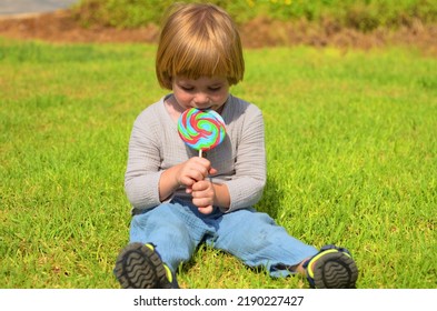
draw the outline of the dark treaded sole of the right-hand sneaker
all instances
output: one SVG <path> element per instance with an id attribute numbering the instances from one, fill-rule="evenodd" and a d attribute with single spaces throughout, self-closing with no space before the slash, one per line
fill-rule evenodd
<path id="1" fill-rule="evenodd" d="M 355 289 L 357 279 L 355 261 L 342 252 L 326 253 L 314 267 L 316 289 Z"/>

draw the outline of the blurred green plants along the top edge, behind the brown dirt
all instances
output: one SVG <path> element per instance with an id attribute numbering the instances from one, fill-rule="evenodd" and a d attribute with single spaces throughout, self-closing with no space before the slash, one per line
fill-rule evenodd
<path id="1" fill-rule="evenodd" d="M 77 18 L 85 27 L 100 24 L 138 28 L 159 23 L 171 0 L 81 0 Z M 256 17 L 294 21 L 335 22 L 338 27 L 371 31 L 377 28 L 435 23 L 436 0 L 211 0 L 226 9 L 238 23 Z"/>

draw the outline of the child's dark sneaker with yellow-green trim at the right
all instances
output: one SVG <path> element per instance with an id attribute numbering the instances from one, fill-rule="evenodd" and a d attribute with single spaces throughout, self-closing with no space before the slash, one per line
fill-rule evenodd
<path id="1" fill-rule="evenodd" d="M 355 289 L 358 269 L 347 249 L 325 245 L 304 263 L 314 289 Z"/>

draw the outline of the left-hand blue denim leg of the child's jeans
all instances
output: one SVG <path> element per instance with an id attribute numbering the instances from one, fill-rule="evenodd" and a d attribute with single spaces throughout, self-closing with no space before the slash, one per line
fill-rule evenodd
<path id="1" fill-rule="evenodd" d="M 188 261 L 202 238 L 203 228 L 189 207 L 177 202 L 162 203 L 130 223 L 130 242 L 152 243 L 162 261 L 176 272 Z"/>

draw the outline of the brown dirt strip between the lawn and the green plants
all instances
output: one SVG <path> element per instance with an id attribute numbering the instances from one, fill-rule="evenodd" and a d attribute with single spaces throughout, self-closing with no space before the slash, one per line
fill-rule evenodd
<path id="1" fill-rule="evenodd" d="M 362 33 L 339 27 L 335 21 L 310 24 L 306 21 L 278 22 L 258 18 L 240 27 L 245 48 L 307 44 L 314 47 L 373 49 L 387 46 L 414 46 L 437 57 L 437 26 L 420 21 L 396 31 L 377 29 Z M 158 27 L 126 30 L 108 27 L 86 29 L 70 10 L 0 19 L 0 36 L 16 39 L 40 39 L 50 42 L 147 42 L 155 43 Z"/>

